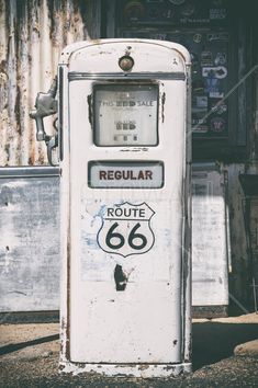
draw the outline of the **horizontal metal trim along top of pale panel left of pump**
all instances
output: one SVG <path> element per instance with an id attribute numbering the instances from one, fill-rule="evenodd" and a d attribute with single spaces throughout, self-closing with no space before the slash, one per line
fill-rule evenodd
<path id="1" fill-rule="evenodd" d="M 56 167 L 3 167 L 0 168 L 0 179 L 7 178 L 41 178 L 59 176 L 60 169 Z"/>

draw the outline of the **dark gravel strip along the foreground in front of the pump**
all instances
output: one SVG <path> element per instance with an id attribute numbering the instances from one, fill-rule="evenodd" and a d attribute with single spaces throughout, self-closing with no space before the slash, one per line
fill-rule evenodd
<path id="1" fill-rule="evenodd" d="M 0 363 L 3 388 L 36 387 L 94 387 L 94 388 L 166 388 L 166 387 L 258 387 L 258 358 L 229 357 L 207 365 L 187 377 L 141 379 L 103 377 L 96 374 L 77 376 L 57 373 L 58 357 L 49 355 L 38 360 Z"/>

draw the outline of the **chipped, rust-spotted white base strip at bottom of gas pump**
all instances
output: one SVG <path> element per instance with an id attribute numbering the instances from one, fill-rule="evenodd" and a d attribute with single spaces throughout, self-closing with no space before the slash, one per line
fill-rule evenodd
<path id="1" fill-rule="evenodd" d="M 67 362 L 60 363 L 59 372 L 74 375 L 93 372 L 110 377 L 165 378 L 191 373 L 192 364 L 83 364 Z"/>

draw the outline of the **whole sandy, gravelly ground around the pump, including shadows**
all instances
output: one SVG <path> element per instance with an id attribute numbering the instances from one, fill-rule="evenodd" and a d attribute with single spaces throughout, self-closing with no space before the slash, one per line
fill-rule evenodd
<path id="1" fill-rule="evenodd" d="M 0 324 L 0 387 L 258 387 L 258 315 L 193 321 L 193 373 L 177 379 L 58 374 L 57 323 Z"/>

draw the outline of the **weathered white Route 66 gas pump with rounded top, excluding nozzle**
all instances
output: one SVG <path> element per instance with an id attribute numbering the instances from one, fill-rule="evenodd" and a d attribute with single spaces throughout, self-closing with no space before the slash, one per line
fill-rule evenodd
<path id="1" fill-rule="evenodd" d="M 190 56 L 68 46 L 58 67 L 60 370 L 191 370 Z"/>

